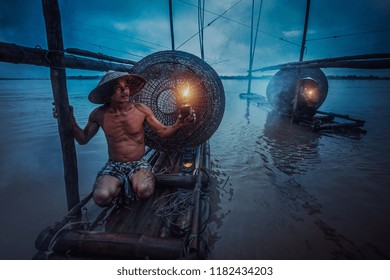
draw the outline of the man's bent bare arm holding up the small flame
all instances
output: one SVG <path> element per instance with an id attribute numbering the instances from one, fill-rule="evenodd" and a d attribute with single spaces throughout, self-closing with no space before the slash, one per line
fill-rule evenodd
<path id="1" fill-rule="evenodd" d="M 194 121 L 194 116 L 190 116 L 183 120 L 179 116 L 176 122 L 173 125 L 166 126 L 163 125 L 153 114 L 153 111 L 144 104 L 137 104 L 139 110 L 145 113 L 146 122 L 149 124 L 150 128 L 161 137 L 170 137 L 174 135 L 181 127 L 188 125 Z"/>

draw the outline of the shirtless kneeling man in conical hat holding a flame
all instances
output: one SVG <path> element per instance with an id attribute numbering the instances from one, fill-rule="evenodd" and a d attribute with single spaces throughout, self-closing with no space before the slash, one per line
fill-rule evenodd
<path id="1" fill-rule="evenodd" d="M 92 103 L 103 105 L 91 112 L 84 129 L 76 123 L 70 107 L 71 126 L 79 144 L 87 144 L 99 127 L 106 136 L 109 159 L 93 187 L 93 199 L 99 206 L 120 201 L 121 186 L 125 187 L 126 197 L 144 199 L 152 195 L 155 180 L 145 159 L 145 121 L 157 135 L 170 137 L 196 120 L 193 112 L 185 119 L 179 115 L 173 125 L 166 126 L 148 106 L 130 102 L 129 97 L 139 92 L 145 82 L 139 75 L 107 72 L 88 96 Z"/>

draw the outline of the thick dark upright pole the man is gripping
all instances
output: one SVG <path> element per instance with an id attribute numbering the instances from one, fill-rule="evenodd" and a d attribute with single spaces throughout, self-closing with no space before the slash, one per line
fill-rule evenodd
<path id="1" fill-rule="evenodd" d="M 50 67 L 50 79 L 53 97 L 58 112 L 58 131 L 60 134 L 62 158 L 64 165 L 64 178 L 68 209 L 80 202 L 78 188 L 78 171 L 76 149 L 70 125 L 70 111 L 68 91 L 66 87 L 65 60 L 63 56 L 63 41 L 61 30 L 61 17 L 58 1 L 42 0 L 43 15 L 46 24 L 48 49 L 57 52 L 54 65 Z"/>

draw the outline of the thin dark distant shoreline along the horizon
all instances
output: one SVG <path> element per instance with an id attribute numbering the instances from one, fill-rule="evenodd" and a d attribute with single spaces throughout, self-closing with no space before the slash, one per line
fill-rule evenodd
<path id="1" fill-rule="evenodd" d="M 103 76 L 68 76 L 67 80 L 98 80 Z M 356 76 L 356 75 L 328 75 L 328 80 L 390 80 L 390 77 L 379 76 Z M 248 76 L 225 76 L 221 75 L 222 80 L 248 80 Z M 252 80 L 269 80 L 272 75 L 266 76 L 253 76 Z M 0 78 L 0 80 L 50 80 L 48 78 Z"/>

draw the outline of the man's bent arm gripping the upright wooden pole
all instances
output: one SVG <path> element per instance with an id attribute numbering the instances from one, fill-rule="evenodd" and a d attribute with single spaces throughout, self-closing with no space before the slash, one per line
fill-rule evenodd
<path id="1" fill-rule="evenodd" d="M 95 136 L 99 130 L 99 124 L 97 122 L 97 114 L 98 114 L 97 110 L 99 108 L 93 110 L 92 113 L 89 115 L 88 123 L 86 124 L 84 129 L 81 129 L 76 123 L 76 119 L 73 114 L 73 107 L 70 106 L 69 108 L 70 108 L 70 123 L 72 125 L 74 139 L 80 145 L 87 144 L 89 140 L 91 140 L 91 138 Z"/>

